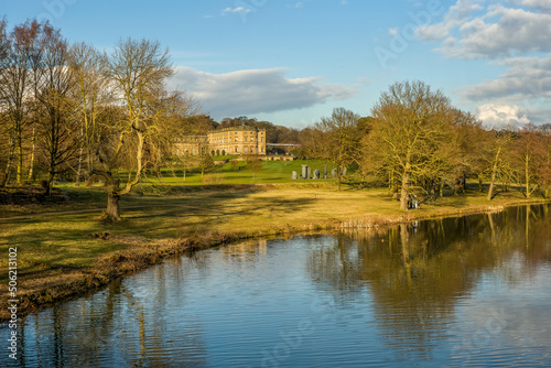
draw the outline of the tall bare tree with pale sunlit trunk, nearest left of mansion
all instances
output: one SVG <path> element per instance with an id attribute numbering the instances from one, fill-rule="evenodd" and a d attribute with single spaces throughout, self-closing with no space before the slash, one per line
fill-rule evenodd
<path id="1" fill-rule="evenodd" d="M 107 77 L 118 97 L 120 115 L 104 126 L 102 140 L 94 150 L 98 166 L 94 174 L 104 177 L 108 191 L 106 216 L 118 220 L 119 198 L 140 182 L 147 160 L 154 159 L 158 144 L 166 142 L 166 111 L 170 102 L 164 86 L 174 74 L 168 50 L 159 42 L 121 40 L 107 61 Z M 172 143 L 169 141 L 169 143 Z M 118 176 L 125 169 L 126 175 Z"/>

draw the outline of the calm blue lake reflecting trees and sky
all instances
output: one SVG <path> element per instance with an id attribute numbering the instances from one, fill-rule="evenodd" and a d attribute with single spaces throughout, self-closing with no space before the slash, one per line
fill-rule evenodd
<path id="1" fill-rule="evenodd" d="M 551 366 L 550 208 L 179 257 L 28 316 L 0 366 Z"/>

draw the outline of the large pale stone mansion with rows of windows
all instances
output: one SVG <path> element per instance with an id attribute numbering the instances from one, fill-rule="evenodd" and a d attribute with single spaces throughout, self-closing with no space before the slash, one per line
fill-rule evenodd
<path id="1" fill-rule="evenodd" d="M 247 126 L 214 130 L 207 136 L 176 138 L 176 155 L 266 154 L 266 130 Z"/>

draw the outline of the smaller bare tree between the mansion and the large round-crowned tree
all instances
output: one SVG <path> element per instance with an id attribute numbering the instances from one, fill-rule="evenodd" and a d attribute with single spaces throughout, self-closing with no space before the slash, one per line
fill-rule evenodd
<path id="1" fill-rule="evenodd" d="M 359 155 L 360 137 L 357 125 L 359 116 L 344 108 L 335 108 L 331 117 L 322 118 L 315 125 L 321 134 L 313 140 L 312 152 L 321 160 L 327 160 L 337 167 L 337 183 L 341 191 L 343 170 Z"/>

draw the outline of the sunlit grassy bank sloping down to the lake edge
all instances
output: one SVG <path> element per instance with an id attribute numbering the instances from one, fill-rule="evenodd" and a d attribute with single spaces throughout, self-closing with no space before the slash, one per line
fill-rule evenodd
<path id="1" fill-rule="evenodd" d="M 488 202 L 473 188 L 468 195 L 439 198 L 403 213 L 386 190 L 338 192 L 331 182 L 140 185 L 121 199 L 123 219 L 107 224 L 100 219 L 101 188 L 66 187 L 56 196 L 50 203 L 15 201 L 1 208 L 1 253 L 7 259 L 8 249 L 18 248 L 20 315 L 188 250 L 253 237 L 369 228 L 527 203 L 519 192 L 501 193 Z M 8 284 L 7 262 L 0 266 L 0 283 Z M 7 288 L 2 291 L 3 320 L 9 297 Z"/>

